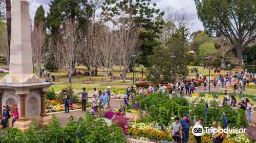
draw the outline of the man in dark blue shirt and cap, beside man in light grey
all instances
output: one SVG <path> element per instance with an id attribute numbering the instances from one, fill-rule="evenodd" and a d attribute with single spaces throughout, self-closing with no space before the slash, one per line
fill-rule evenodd
<path id="1" fill-rule="evenodd" d="M 188 141 L 189 136 L 189 123 L 191 122 L 191 117 L 188 114 L 184 114 L 183 118 L 180 120 L 182 126 L 182 143 Z"/>

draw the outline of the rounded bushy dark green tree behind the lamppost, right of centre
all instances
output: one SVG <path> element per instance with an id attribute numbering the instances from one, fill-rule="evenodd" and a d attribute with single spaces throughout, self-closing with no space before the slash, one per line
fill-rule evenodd
<path id="1" fill-rule="evenodd" d="M 150 81 L 169 81 L 174 80 L 174 58 L 176 56 L 176 74 L 177 77 L 188 75 L 186 47 L 180 38 L 169 38 L 166 46 L 159 45 L 154 47 L 154 54 L 151 55 L 150 62 L 152 67 L 147 67 L 147 79 Z"/>

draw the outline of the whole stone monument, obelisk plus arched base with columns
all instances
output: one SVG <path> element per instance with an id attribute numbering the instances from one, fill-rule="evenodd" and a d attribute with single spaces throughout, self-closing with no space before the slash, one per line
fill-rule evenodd
<path id="1" fill-rule="evenodd" d="M 29 4 L 27 0 L 13 0 L 9 74 L 0 80 L 0 117 L 4 104 L 11 113 L 11 105 L 16 104 L 19 119 L 14 127 L 28 129 L 30 116 L 35 116 L 40 126 L 48 124 L 51 117 L 45 112 L 45 93 L 51 85 L 33 74 Z M 10 126 L 12 120 L 8 122 Z"/>

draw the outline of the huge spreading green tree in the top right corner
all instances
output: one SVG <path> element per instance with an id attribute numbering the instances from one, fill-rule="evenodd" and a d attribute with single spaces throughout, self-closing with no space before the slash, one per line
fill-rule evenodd
<path id="1" fill-rule="evenodd" d="M 205 30 L 227 37 L 242 64 L 242 51 L 256 38 L 256 1 L 254 0 L 195 0 L 198 17 Z"/>

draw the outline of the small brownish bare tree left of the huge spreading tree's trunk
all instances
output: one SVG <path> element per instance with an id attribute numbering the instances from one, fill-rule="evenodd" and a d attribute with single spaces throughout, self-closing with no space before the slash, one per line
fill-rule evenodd
<path id="1" fill-rule="evenodd" d="M 232 50 L 232 44 L 230 44 L 229 39 L 226 38 L 224 35 L 221 35 L 217 39 L 217 43 L 219 44 L 220 48 L 217 50 L 218 59 L 221 59 L 221 68 L 226 68 L 225 64 L 225 57 L 227 53 Z"/>

